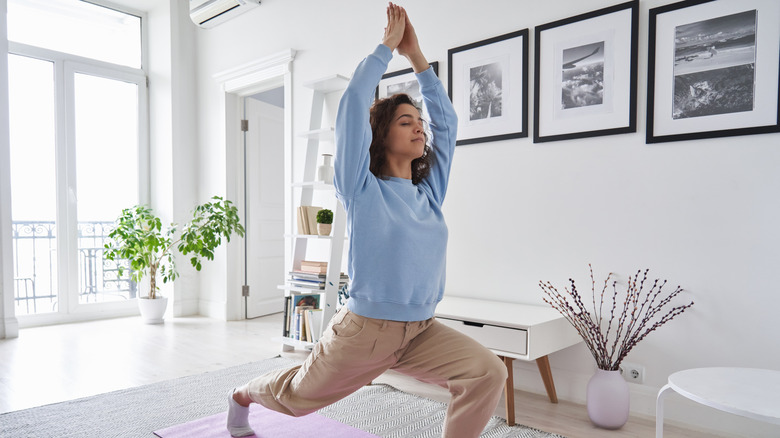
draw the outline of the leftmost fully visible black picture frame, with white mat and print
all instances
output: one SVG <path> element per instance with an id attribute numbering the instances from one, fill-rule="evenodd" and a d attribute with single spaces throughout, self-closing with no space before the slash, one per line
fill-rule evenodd
<path id="1" fill-rule="evenodd" d="M 528 136 L 528 29 L 447 51 L 457 146 Z"/>

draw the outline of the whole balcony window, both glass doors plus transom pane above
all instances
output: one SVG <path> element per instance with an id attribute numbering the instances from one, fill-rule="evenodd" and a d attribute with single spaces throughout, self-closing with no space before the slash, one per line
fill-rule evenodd
<path id="1" fill-rule="evenodd" d="M 122 208 L 149 200 L 144 20 L 89 1 L 8 0 L 21 326 L 136 309 L 135 285 L 103 245 Z"/>

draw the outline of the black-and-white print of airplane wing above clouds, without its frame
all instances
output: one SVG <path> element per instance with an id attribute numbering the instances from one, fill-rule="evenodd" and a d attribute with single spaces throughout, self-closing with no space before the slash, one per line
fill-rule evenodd
<path id="1" fill-rule="evenodd" d="M 561 108 L 604 103 L 604 41 L 561 52 Z"/>

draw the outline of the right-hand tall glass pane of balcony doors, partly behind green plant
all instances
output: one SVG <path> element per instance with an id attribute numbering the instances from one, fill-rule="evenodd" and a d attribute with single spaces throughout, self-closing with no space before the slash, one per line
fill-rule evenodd
<path id="1" fill-rule="evenodd" d="M 105 236 L 123 208 L 138 203 L 138 86 L 76 73 L 76 187 L 79 302 L 135 297 L 103 260 Z"/>

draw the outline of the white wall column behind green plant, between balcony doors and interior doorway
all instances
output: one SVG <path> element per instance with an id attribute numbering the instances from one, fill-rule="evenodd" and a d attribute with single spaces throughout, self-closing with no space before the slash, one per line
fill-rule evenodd
<path id="1" fill-rule="evenodd" d="M 189 221 L 198 198 L 195 103 L 195 29 L 185 2 L 154 2 L 149 24 L 149 102 L 152 208 L 163 222 Z M 198 313 L 199 281 L 186 257 L 178 257 L 180 277 L 161 285 L 174 316 Z"/>

